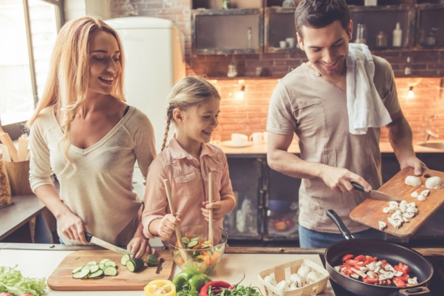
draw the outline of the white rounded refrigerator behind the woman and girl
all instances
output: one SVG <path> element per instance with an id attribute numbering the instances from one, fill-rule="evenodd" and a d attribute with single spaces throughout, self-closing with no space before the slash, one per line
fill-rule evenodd
<path id="1" fill-rule="evenodd" d="M 183 36 L 166 19 L 134 16 L 105 22 L 117 31 L 122 41 L 126 101 L 147 114 L 159 153 L 165 133 L 167 96 L 174 84 L 185 77 Z M 171 126 L 169 138 L 173 130 Z M 143 198 L 145 186 L 137 167 L 133 178 L 134 190 Z"/>

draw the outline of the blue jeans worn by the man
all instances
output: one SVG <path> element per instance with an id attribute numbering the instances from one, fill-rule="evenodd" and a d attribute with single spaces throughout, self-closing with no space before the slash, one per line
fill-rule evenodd
<path id="1" fill-rule="evenodd" d="M 358 239 L 385 239 L 385 233 L 373 228 L 353 233 Z M 327 248 L 331 244 L 344 240 L 342 234 L 319 232 L 299 225 L 299 247 L 300 248 Z"/>

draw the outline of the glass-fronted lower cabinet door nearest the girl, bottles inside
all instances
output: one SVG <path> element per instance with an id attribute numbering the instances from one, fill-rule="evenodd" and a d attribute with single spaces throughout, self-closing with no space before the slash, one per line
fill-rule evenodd
<path id="1" fill-rule="evenodd" d="M 262 159 L 228 158 L 236 207 L 225 216 L 229 239 L 262 239 Z"/>

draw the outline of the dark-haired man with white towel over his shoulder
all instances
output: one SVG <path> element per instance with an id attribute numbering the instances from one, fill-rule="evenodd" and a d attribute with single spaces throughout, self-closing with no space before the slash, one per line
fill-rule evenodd
<path id="1" fill-rule="evenodd" d="M 382 232 L 351 221 L 349 214 L 381 181 L 380 126 L 401 169 L 422 173 L 411 129 L 399 106 L 393 71 L 367 46 L 350 43 L 353 22 L 345 0 L 304 0 L 296 8 L 297 41 L 308 62 L 276 86 L 268 112 L 268 165 L 301 178 L 299 243 L 325 248 L 343 239 L 326 211 L 333 209 L 358 238 Z M 349 49 L 350 47 L 350 49 Z M 370 78 L 369 78 L 370 77 Z M 287 150 L 293 133 L 300 158 Z"/>

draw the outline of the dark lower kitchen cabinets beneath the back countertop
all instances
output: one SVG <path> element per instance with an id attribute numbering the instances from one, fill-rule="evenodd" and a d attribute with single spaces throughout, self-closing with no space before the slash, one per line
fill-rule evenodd
<path id="1" fill-rule="evenodd" d="M 296 155 L 298 153 L 295 153 Z M 224 219 L 224 228 L 228 232 L 230 240 L 260 240 L 289 241 L 297 245 L 298 236 L 298 190 L 300 179 L 291 178 L 277 171 L 272 170 L 266 163 L 266 154 L 226 154 L 230 179 L 238 201 L 234 209 Z M 428 168 L 437 171 L 444 171 L 443 153 L 439 152 L 418 152 L 417 157 L 421 159 Z M 396 173 L 400 166 L 393 152 L 383 152 L 382 159 L 382 181 L 387 182 Z M 249 200 L 249 201 L 245 201 Z M 278 201 L 278 202 L 276 202 Z M 245 221 L 253 222 L 253 227 L 237 227 L 239 219 L 243 219 L 243 204 L 251 205 L 253 211 L 252 218 Z M 246 205 L 244 204 L 244 208 Z M 276 204 L 280 208 L 276 208 Z M 425 247 L 435 241 L 444 241 L 444 206 L 430 217 L 419 230 L 409 238 L 399 238 L 388 235 L 387 240 L 395 243 L 408 245 L 418 245 Z M 291 220 L 291 222 L 290 222 Z M 287 221 L 291 226 L 284 223 Z M 277 224 L 278 222 L 281 222 Z M 246 222 L 245 225 L 248 223 Z M 241 225 L 242 226 L 242 225 Z M 242 231 L 240 231 L 242 230 Z"/>

